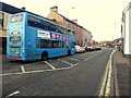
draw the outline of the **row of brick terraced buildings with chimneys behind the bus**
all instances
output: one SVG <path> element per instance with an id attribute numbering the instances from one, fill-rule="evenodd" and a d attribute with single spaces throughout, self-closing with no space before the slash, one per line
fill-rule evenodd
<path id="1" fill-rule="evenodd" d="M 69 20 L 66 16 L 58 13 L 58 7 L 50 8 L 50 13 L 47 19 L 53 20 L 57 24 L 74 29 L 76 45 L 91 46 L 92 33 L 78 24 L 78 20 Z"/>

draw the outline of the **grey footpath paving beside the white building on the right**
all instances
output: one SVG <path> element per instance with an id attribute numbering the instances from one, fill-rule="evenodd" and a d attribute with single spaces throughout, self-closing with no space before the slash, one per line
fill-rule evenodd
<path id="1" fill-rule="evenodd" d="M 130 97 L 130 60 L 124 58 L 121 51 L 114 53 L 114 77 L 115 77 L 115 95 L 117 97 Z"/>

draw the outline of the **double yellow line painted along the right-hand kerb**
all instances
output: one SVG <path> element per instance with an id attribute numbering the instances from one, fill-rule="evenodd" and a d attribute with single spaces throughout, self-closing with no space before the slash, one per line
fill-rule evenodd
<path id="1" fill-rule="evenodd" d="M 107 68 L 106 68 L 106 73 L 103 79 L 103 84 L 100 87 L 99 91 L 99 97 L 103 96 L 109 96 L 110 93 L 110 78 L 111 78 L 111 60 L 112 60 L 112 54 L 115 53 L 116 50 L 114 50 L 109 57 Z"/>

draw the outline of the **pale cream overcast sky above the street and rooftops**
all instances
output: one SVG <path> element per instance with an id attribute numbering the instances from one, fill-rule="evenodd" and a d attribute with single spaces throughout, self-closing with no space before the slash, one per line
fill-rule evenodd
<path id="1" fill-rule="evenodd" d="M 93 39 L 112 40 L 121 36 L 122 10 L 130 0 L 2 0 L 16 8 L 47 16 L 50 8 L 57 5 L 58 12 L 93 34 Z M 73 9 L 72 9 L 73 8 Z"/>

